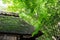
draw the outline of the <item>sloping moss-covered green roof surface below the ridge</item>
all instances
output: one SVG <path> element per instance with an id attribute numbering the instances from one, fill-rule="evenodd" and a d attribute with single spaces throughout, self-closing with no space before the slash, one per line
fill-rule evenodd
<path id="1" fill-rule="evenodd" d="M 31 34 L 34 27 L 19 17 L 0 15 L 0 32 Z"/>

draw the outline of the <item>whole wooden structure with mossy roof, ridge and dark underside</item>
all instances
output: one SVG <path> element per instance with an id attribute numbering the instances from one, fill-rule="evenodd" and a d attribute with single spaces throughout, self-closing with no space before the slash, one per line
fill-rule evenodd
<path id="1" fill-rule="evenodd" d="M 36 40 L 41 31 L 32 37 L 34 27 L 12 12 L 0 12 L 0 40 Z M 10 39 L 9 39 L 10 37 Z"/>

